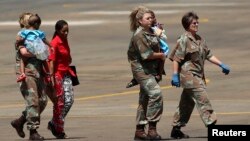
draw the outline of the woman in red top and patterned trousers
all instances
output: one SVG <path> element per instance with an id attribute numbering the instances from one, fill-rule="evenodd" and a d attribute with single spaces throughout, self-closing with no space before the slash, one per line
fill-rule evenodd
<path id="1" fill-rule="evenodd" d="M 70 73 L 73 71 L 69 65 L 72 62 L 68 45 L 68 23 L 64 20 L 57 21 L 55 33 L 51 41 L 53 53 L 50 55 L 51 72 L 53 74 L 54 88 L 57 101 L 53 105 L 53 118 L 48 123 L 48 129 L 58 139 L 67 138 L 64 132 L 64 120 L 73 102 L 74 93 Z"/>

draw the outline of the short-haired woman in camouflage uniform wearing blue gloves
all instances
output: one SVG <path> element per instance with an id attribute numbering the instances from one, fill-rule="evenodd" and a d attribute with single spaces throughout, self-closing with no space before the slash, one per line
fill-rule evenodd
<path id="1" fill-rule="evenodd" d="M 230 72 L 227 65 L 212 55 L 205 40 L 196 34 L 198 19 L 193 12 L 188 12 L 183 16 L 182 25 L 186 32 L 177 40 L 177 46 L 170 55 L 170 60 L 173 61 L 171 83 L 173 86 L 183 87 L 179 106 L 173 118 L 171 131 L 173 138 L 189 137 L 180 128 L 188 123 L 195 104 L 205 126 L 214 125 L 217 121 L 205 90 L 205 60 L 220 66 L 226 75 Z"/>

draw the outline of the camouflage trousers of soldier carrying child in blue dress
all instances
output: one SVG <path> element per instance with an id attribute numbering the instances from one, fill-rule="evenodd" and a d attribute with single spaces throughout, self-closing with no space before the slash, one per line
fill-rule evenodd
<path id="1" fill-rule="evenodd" d="M 43 80 L 27 76 L 26 80 L 20 83 L 20 90 L 26 104 L 23 115 L 27 120 L 27 129 L 37 129 L 40 125 L 40 115 L 48 102 Z"/>

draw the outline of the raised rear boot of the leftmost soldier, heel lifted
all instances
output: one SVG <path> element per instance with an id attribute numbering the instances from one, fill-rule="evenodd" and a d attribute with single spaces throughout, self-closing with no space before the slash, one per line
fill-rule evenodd
<path id="1" fill-rule="evenodd" d="M 18 136 L 20 136 L 21 138 L 25 137 L 25 133 L 23 132 L 23 125 L 26 122 L 26 118 L 22 115 L 20 118 L 11 121 L 11 125 L 13 128 L 16 129 L 16 132 L 18 134 Z"/>

